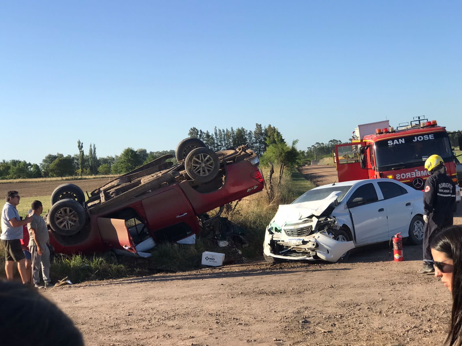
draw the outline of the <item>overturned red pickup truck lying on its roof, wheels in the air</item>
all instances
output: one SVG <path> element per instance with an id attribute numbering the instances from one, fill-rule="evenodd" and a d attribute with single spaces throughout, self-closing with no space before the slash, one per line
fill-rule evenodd
<path id="1" fill-rule="evenodd" d="M 86 201 L 77 185 L 58 186 L 47 215 L 55 251 L 136 254 L 147 239 L 171 242 L 199 233 L 226 203 L 263 189 L 258 156 L 247 145 L 214 152 L 186 138 L 175 154 L 176 164 L 164 155 L 87 192 Z"/>

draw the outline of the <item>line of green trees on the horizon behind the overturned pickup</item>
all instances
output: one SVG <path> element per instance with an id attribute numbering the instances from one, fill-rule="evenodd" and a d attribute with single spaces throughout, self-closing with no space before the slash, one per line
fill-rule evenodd
<path id="1" fill-rule="evenodd" d="M 219 129 L 212 131 L 191 127 L 188 137 L 201 139 L 214 151 L 249 144 L 260 157 L 262 163 L 277 163 L 281 173 L 287 166 L 303 165 L 314 159 L 315 155 L 330 155 L 334 145 L 341 143 L 332 139 L 328 143 L 315 143 L 306 150 L 297 150 L 298 140 L 291 145 L 286 143 L 280 131 L 272 125 L 255 124 L 255 129 L 243 127 Z M 0 179 L 27 179 L 46 177 L 86 176 L 124 174 L 163 155 L 175 156 L 175 150 L 147 151 L 146 149 L 126 148 L 120 155 L 97 156 L 95 143 L 90 143 L 87 152 L 84 143 L 77 141 L 78 153 L 63 155 L 61 153 L 46 155 L 40 164 L 20 160 L 0 162 Z M 172 161 L 175 161 L 173 158 Z"/>

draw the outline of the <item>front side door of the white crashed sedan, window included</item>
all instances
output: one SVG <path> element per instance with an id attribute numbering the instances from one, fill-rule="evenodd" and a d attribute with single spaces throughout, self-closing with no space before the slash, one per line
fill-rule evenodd
<path id="1" fill-rule="evenodd" d="M 385 202 L 378 200 L 374 184 L 367 183 L 356 188 L 348 197 L 346 206 L 353 219 L 356 245 L 388 239 Z"/>

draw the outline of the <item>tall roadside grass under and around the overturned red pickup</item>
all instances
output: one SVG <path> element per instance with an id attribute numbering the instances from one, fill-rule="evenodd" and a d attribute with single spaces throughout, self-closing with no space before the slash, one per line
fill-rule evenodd
<path id="1" fill-rule="evenodd" d="M 265 178 L 267 169 L 263 167 Z M 228 212 L 223 217 L 237 225 L 242 231 L 243 238 L 248 241 L 247 247 L 228 246 L 219 248 L 213 234 L 204 232 L 197 235 L 194 245 L 184 244 L 158 244 L 151 253 L 150 258 L 116 257 L 111 252 L 94 254 L 92 256 L 64 256 L 58 255 L 51 267 L 53 280 L 68 277 L 72 282 L 85 280 L 101 280 L 120 278 L 133 275 L 148 275 L 158 271 L 184 271 L 201 268 L 201 254 L 203 251 L 224 252 L 225 258 L 243 262 L 262 256 L 264 231 L 274 216 L 279 204 L 291 203 L 305 191 L 315 185 L 304 179 L 298 171 L 287 172 L 276 191 L 276 201 L 269 204 L 265 191 L 244 198 L 240 202 L 231 203 Z M 33 200 L 43 203 L 44 213 L 51 207 L 51 196 L 36 196 L 21 198 L 18 211 L 25 216 Z M 208 234 L 207 234 L 208 233 Z M 0 268 L 3 267 L 3 249 L 0 249 Z M 0 270 L 0 276 L 4 276 Z"/>

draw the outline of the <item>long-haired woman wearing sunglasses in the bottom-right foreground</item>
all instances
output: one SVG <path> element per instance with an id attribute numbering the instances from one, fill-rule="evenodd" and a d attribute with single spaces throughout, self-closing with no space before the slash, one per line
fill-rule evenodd
<path id="1" fill-rule="evenodd" d="M 450 330 L 444 346 L 462 346 L 462 226 L 451 226 L 432 239 L 435 276 L 452 293 Z"/>

